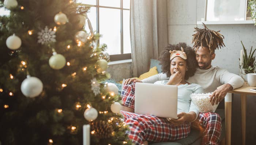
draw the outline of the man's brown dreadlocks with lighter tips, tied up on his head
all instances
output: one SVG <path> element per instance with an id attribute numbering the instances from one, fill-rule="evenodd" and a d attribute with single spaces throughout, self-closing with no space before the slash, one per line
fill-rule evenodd
<path id="1" fill-rule="evenodd" d="M 195 51 L 197 51 L 199 47 L 208 47 L 209 51 L 211 53 L 214 53 L 217 48 L 221 49 L 223 45 L 225 46 L 225 44 L 223 43 L 224 36 L 221 35 L 221 33 L 219 33 L 220 31 L 216 32 L 216 31 L 210 30 L 206 27 L 205 24 L 204 24 L 204 29 L 200 29 L 200 28 L 195 28 L 195 29 L 196 30 L 194 32 L 196 33 L 192 35 L 193 36 L 192 43 L 194 43 L 193 48 Z"/>

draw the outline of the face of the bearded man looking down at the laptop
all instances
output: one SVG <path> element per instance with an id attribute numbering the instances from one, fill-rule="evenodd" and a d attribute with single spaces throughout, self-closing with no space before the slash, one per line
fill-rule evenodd
<path id="1" fill-rule="evenodd" d="M 196 60 L 200 69 L 209 69 L 211 60 L 214 60 L 215 53 L 211 54 L 207 47 L 199 47 L 196 51 Z"/>

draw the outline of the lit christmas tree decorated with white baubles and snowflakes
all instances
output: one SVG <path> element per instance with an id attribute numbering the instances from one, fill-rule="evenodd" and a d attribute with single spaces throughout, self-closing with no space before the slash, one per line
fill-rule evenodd
<path id="1" fill-rule="evenodd" d="M 0 142 L 3 145 L 131 144 L 109 56 L 72 0 L 1 0 Z M 84 30 L 88 25 L 90 32 Z"/>

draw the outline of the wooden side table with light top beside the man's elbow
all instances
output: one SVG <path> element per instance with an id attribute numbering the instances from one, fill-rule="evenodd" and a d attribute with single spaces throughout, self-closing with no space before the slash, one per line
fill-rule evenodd
<path id="1" fill-rule="evenodd" d="M 244 84 L 240 88 L 231 90 L 227 93 L 225 97 L 225 124 L 226 124 L 226 145 L 231 145 L 231 108 L 232 108 L 232 95 L 240 94 L 241 95 L 241 116 L 242 116 L 242 145 L 245 145 L 245 134 L 246 134 L 246 95 L 256 96 L 256 92 L 250 89 L 256 87 L 249 87 L 248 84 Z"/>

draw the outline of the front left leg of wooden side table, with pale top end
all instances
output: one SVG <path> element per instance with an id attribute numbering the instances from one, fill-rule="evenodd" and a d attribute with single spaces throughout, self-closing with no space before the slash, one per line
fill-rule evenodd
<path id="1" fill-rule="evenodd" d="M 225 96 L 225 126 L 226 126 L 226 145 L 231 145 L 231 111 L 232 109 L 232 94 L 227 93 Z"/>

